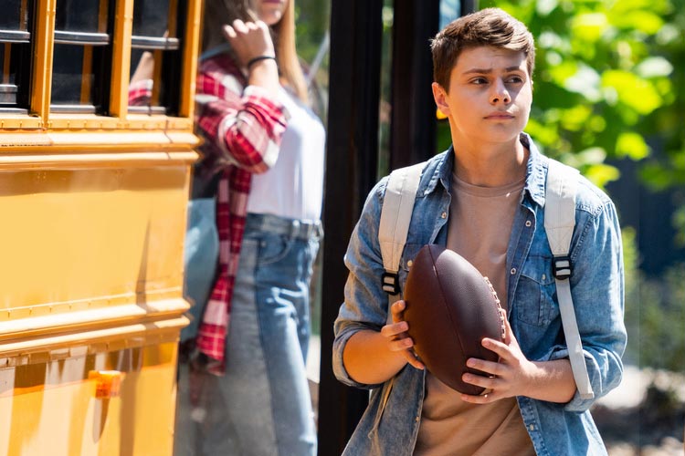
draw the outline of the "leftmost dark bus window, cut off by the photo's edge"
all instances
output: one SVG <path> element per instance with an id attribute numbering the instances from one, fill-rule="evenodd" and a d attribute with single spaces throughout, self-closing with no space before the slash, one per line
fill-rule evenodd
<path id="1" fill-rule="evenodd" d="M 6 0 L 0 16 L 0 113 L 26 114 L 30 75 L 33 2 Z"/>

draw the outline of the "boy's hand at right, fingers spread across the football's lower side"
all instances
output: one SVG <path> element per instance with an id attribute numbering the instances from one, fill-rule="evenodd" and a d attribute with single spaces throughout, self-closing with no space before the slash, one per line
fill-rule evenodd
<path id="1" fill-rule="evenodd" d="M 462 379 L 465 382 L 485 388 L 485 392 L 479 396 L 462 394 L 461 399 L 465 402 L 487 404 L 498 399 L 527 396 L 526 391 L 531 385 L 530 380 L 534 376 L 533 372 L 536 367 L 523 355 L 506 316 L 504 325 L 506 327 L 504 343 L 490 338 L 484 338 L 482 341 L 483 347 L 500 356 L 499 362 L 478 358 L 469 358 L 467 361 L 469 368 L 486 372 L 490 374 L 490 377 L 464 374 Z"/>

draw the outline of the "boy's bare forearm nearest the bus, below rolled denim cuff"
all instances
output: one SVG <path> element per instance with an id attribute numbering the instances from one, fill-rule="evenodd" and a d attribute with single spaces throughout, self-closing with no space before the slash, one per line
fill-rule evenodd
<path id="1" fill-rule="evenodd" d="M 361 330 L 347 341 L 342 363 L 354 381 L 368 385 L 393 378 L 406 365 L 406 358 L 387 346 L 380 332 Z"/>

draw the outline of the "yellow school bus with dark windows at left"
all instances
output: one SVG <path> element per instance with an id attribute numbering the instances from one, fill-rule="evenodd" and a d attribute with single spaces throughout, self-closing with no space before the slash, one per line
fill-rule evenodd
<path id="1" fill-rule="evenodd" d="M 172 454 L 201 0 L 2 10 L 0 455 Z"/>

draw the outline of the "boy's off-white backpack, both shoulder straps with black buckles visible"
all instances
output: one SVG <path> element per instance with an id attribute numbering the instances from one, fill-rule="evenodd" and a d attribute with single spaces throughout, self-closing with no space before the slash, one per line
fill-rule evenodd
<path id="1" fill-rule="evenodd" d="M 406 234 L 409 232 L 421 171 L 425 166 L 426 162 L 422 162 L 391 172 L 385 190 L 378 228 L 378 242 L 385 269 L 381 283 L 388 295 L 388 320 L 392 318 L 390 306 L 400 299 L 397 272 L 402 251 L 405 248 Z M 556 295 L 559 300 L 564 337 L 575 385 L 582 399 L 592 399 L 595 394 L 585 366 L 570 284 L 573 268 L 569 252 L 575 226 L 577 174 L 578 171 L 574 168 L 549 159 L 545 185 L 544 230 L 553 254 Z"/>

